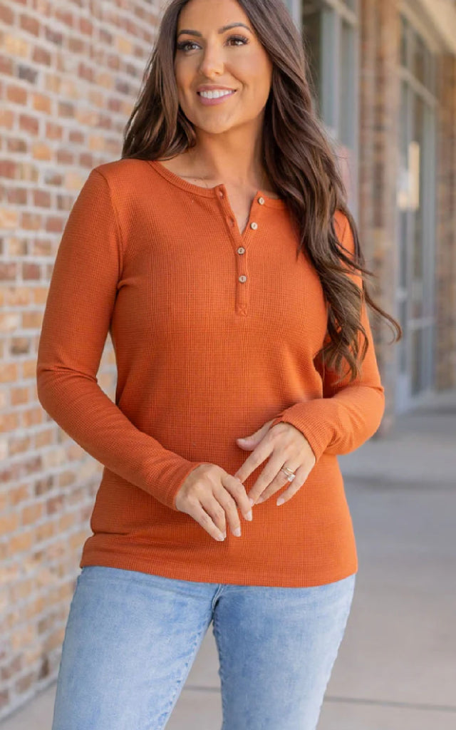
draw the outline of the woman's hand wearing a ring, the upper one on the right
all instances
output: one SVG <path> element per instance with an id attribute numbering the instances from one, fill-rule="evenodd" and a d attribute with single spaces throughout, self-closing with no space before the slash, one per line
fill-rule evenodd
<path id="1" fill-rule="evenodd" d="M 280 495 L 277 504 L 287 502 L 302 487 L 317 461 L 309 442 L 301 431 L 285 421 L 276 423 L 270 429 L 269 426 L 273 420 L 274 418 L 268 420 L 254 434 L 236 439 L 241 448 L 252 451 L 234 475 L 241 482 L 244 482 L 260 464 L 263 464 L 268 456 L 270 457 L 247 495 L 254 504 L 264 502 L 272 494 L 289 484 L 290 486 Z M 295 473 L 296 476 L 292 482 L 287 480 L 286 473 L 282 472 L 282 466 L 286 466 Z"/>

